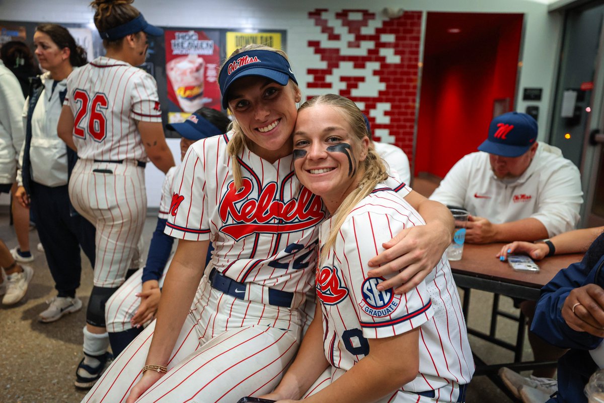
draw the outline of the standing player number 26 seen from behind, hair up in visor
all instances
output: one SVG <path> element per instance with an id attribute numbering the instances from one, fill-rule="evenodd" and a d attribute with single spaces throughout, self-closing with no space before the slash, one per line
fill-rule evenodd
<path id="1" fill-rule="evenodd" d="M 147 56 L 147 35 L 162 30 L 145 21 L 132 0 L 95 0 L 94 23 L 105 56 L 67 79 L 57 134 L 77 161 L 69 198 L 96 228 L 94 287 L 88 301 L 84 358 L 76 387 L 89 388 L 111 361 L 104 307 L 138 269 L 138 241 L 147 214 L 144 166 L 167 172 L 174 166 L 165 143 L 155 79 L 137 68 Z"/>

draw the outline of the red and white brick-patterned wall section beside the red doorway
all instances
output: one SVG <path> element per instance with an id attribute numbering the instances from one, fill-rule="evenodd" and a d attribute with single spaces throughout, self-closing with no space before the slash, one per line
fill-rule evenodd
<path id="1" fill-rule="evenodd" d="M 309 67 L 307 95 L 335 92 L 368 115 L 376 140 L 413 152 L 422 12 L 383 19 L 367 10 L 309 13 L 321 34 L 308 40 L 323 66 Z"/>

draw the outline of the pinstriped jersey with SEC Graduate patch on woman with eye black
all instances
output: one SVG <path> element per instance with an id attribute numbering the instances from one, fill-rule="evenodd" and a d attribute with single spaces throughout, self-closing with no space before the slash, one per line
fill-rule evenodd
<path id="1" fill-rule="evenodd" d="M 321 245 L 329 237 L 331 219 L 321 225 Z M 457 288 L 443 255 L 431 274 L 413 290 L 394 295 L 378 291 L 384 281 L 367 277 L 367 262 L 386 242 L 423 219 L 393 190 L 377 185 L 356 205 L 339 230 L 335 245 L 316 272 L 321 301 L 324 351 L 332 365 L 332 380 L 351 369 L 369 352 L 369 338 L 400 335 L 420 327 L 419 373 L 380 402 L 416 401 L 402 391 L 435 390 L 439 401 L 456 401 L 458 384 L 467 384 L 474 361 L 467 340 Z M 411 399 L 411 400 L 410 400 Z"/>

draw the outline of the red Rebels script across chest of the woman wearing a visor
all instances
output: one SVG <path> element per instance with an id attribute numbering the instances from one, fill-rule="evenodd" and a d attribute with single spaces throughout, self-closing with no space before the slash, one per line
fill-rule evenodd
<path id="1" fill-rule="evenodd" d="M 253 190 L 251 180 L 243 178 L 242 189 L 236 191 L 231 182 L 219 207 L 220 219 L 229 216 L 235 224 L 220 228 L 235 240 L 252 233 L 278 233 L 312 228 L 324 218 L 321 199 L 304 188 L 298 199 L 284 203 L 278 199 L 278 188 L 271 182 L 262 189 L 258 199 L 248 198 Z M 278 219 L 280 222 L 275 222 Z"/>

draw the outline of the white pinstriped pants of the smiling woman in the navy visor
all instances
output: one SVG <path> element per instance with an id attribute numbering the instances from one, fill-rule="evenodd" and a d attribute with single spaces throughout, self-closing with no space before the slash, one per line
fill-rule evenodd
<path id="1" fill-rule="evenodd" d="M 275 307 L 217 291 L 205 276 L 191 309 L 168 373 L 137 402 L 233 403 L 243 396 L 271 392 L 298 350 L 298 312 L 280 308 L 274 326 L 266 326 L 269 317 L 260 320 L 251 312 L 277 312 Z M 82 402 L 126 401 L 142 375 L 155 323 L 123 350 Z"/>

